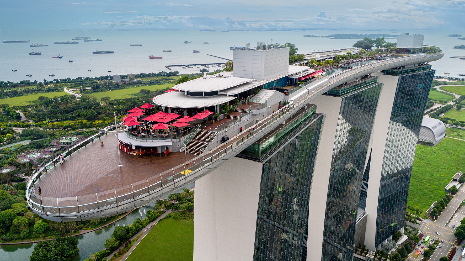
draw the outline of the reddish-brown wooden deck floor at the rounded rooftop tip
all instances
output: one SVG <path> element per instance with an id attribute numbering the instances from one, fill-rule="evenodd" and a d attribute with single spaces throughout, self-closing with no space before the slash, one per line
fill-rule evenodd
<path id="1" fill-rule="evenodd" d="M 45 197 L 73 197 L 95 194 L 109 189 L 131 185 L 182 164 L 185 153 L 168 156 L 136 156 L 117 151 L 114 135 L 102 136 L 104 146 L 97 140 L 66 158 L 40 178 L 36 187 Z M 118 167 L 118 153 L 121 164 Z M 187 154 L 187 159 L 194 157 Z"/>

